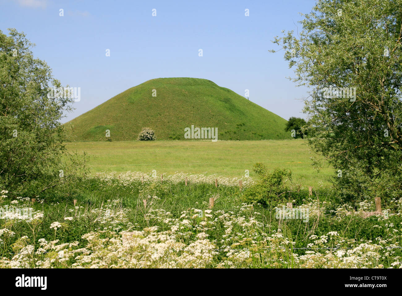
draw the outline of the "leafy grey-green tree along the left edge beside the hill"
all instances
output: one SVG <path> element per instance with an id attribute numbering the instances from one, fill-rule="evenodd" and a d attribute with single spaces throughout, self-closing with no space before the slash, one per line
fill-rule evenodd
<path id="1" fill-rule="evenodd" d="M 35 180 L 49 186 L 62 180 L 59 120 L 74 98 L 57 91 L 48 95 L 50 84 L 58 90 L 61 85 L 49 66 L 33 57 L 33 46 L 24 33 L 0 31 L 0 188 L 22 191 Z"/>

